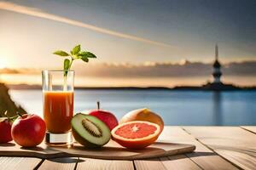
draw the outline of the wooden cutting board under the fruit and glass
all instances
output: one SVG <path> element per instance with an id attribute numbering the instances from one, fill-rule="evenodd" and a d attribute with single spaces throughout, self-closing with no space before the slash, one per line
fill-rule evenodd
<path id="1" fill-rule="evenodd" d="M 49 147 L 46 144 L 40 144 L 34 148 L 23 148 L 18 144 L 0 144 L 0 156 L 32 156 L 39 158 L 56 157 L 90 157 L 108 160 L 135 160 L 154 158 L 161 156 L 172 156 L 192 152 L 195 145 L 192 144 L 174 144 L 158 141 L 151 144 L 143 150 L 128 150 L 110 140 L 108 144 L 100 149 L 88 149 L 80 144 L 73 144 L 72 147 Z"/>

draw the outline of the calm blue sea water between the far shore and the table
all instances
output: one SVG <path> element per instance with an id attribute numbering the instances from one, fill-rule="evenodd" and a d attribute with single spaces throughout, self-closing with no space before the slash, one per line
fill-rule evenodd
<path id="1" fill-rule="evenodd" d="M 12 99 L 29 113 L 43 114 L 41 90 L 10 90 Z M 204 92 L 175 90 L 75 90 L 74 111 L 103 110 L 118 118 L 147 107 L 166 125 L 256 125 L 256 91 Z"/>

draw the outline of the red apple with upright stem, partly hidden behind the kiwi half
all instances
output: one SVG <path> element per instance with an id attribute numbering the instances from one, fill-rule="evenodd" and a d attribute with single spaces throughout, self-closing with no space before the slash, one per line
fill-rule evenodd
<path id="1" fill-rule="evenodd" d="M 112 113 L 100 110 L 100 102 L 97 102 L 97 105 L 98 109 L 96 111 L 90 111 L 89 115 L 96 116 L 98 119 L 104 122 L 110 131 L 113 129 L 113 127 L 119 125 L 117 118 Z"/>

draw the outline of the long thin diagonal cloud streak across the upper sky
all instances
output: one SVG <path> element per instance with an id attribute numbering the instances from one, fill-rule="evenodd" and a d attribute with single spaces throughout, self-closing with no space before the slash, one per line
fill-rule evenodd
<path id="1" fill-rule="evenodd" d="M 8 10 L 8 11 L 12 11 L 15 13 L 20 13 L 20 14 L 27 14 L 27 15 L 47 19 L 47 20 L 55 20 L 58 22 L 66 23 L 68 25 L 79 26 L 79 27 L 83 27 L 86 29 L 90 29 L 92 31 L 97 31 L 97 32 L 101 32 L 104 34 L 108 34 L 108 35 L 111 35 L 114 37 L 121 37 L 121 38 L 131 39 L 131 40 L 138 41 L 138 42 L 146 42 L 146 43 L 150 43 L 150 44 L 154 44 L 154 45 L 158 45 L 158 46 L 175 48 L 175 47 L 173 47 L 167 43 L 164 43 L 164 42 L 156 42 L 156 41 L 152 41 L 152 40 L 149 40 L 149 39 L 146 39 L 143 37 L 136 37 L 136 36 L 122 33 L 122 32 L 111 31 L 111 30 L 108 30 L 108 29 L 105 29 L 102 27 L 92 26 L 92 25 L 86 24 L 84 22 L 79 22 L 77 20 L 70 20 L 68 18 L 61 17 L 61 16 L 58 16 L 55 14 L 48 14 L 48 13 L 45 13 L 45 12 L 39 10 L 38 8 L 29 8 L 26 6 L 21 6 L 21 5 L 18 5 L 15 3 L 9 3 L 9 2 L 0 2 L 0 9 Z"/>

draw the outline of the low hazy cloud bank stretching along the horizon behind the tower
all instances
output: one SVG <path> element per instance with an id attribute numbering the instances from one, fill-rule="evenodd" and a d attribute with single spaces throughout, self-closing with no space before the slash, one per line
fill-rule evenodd
<path id="1" fill-rule="evenodd" d="M 207 77 L 212 74 L 211 63 L 189 62 L 182 64 L 172 62 L 99 63 L 74 65 L 79 77 Z M 42 69 L 0 69 L 2 74 L 40 74 Z M 256 61 L 231 62 L 222 65 L 224 76 L 256 76 Z"/>

